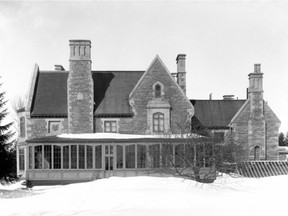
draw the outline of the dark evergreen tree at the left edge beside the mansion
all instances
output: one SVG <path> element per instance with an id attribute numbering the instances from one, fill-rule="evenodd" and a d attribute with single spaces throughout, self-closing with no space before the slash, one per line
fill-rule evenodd
<path id="1" fill-rule="evenodd" d="M 0 84 L 1 87 L 1 84 Z M 5 108 L 5 92 L 0 92 L 0 183 L 13 181 L 16 179 L 16 149 L 13 140 L 14 133 L 10 127 L 13 122 L 4 124 L 3 120 L 7 116 Z"/>

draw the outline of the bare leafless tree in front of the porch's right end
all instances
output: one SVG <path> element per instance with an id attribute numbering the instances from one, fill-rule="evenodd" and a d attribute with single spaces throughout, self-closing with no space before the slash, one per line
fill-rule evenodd
<path id="1" fill-rule="evenodd" d="M 204 134 L 203 131 L 201 133 Z M 161 149 L 157 145 L 149 147 L 150 165 L 160 173 L 198 182 L 213 182 L 217 172 L 231 173 L 237 169 L 238 146 L 232 135 L 226 141 L 220 142 L 211 134 L 200 136 L 190 133 L 179 138 L 166 135 Z"/>

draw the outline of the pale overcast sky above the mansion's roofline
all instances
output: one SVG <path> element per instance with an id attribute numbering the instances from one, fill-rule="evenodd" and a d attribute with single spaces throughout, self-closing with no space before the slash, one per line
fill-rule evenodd
<path id="1" fill-rule="evenodd" d="M 246 98 L 261 63 L 264 98 L 288 131 L 288 2 L 0 2 L 0 75 L 7 97 L 28 92 L 34 64 L 69 69 L 69 39 L 92 42 L 93 70 L 170 72 L 187 54 L 187 96 Z"/>

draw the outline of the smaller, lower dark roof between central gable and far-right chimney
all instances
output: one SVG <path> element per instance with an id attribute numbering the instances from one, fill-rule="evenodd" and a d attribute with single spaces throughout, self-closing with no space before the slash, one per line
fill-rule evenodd
<path id="1" fill-rule="evenodd" d="M 192 127 L 227 128 L 246 100 L 190 100 L 195 114 Z"/>

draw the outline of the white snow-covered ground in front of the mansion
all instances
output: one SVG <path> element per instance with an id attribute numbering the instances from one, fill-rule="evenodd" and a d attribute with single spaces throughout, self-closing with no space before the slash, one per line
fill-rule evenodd
<path id="1" fill-rule="evenodd" d="M 179 178 L 112 177 L 21 190 L 0 186 L 0 215 L 287 215 L 288 176 L 223 176 L 213 184 Z"/>

